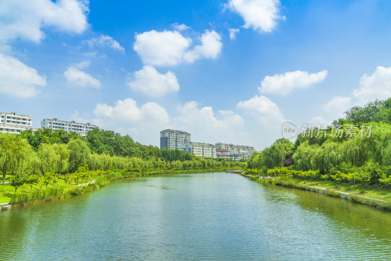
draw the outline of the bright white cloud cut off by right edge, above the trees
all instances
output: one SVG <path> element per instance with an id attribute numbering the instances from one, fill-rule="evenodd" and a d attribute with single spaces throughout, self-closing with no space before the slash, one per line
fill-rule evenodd
<path id="1" fill-rule="evenodd" d="M 391 67 L 378 66 L 372 75 L 364 74 L 360 79 L 360 88 L 353 89 L 353 96 L 360 104 L 391 96 Z"/>

